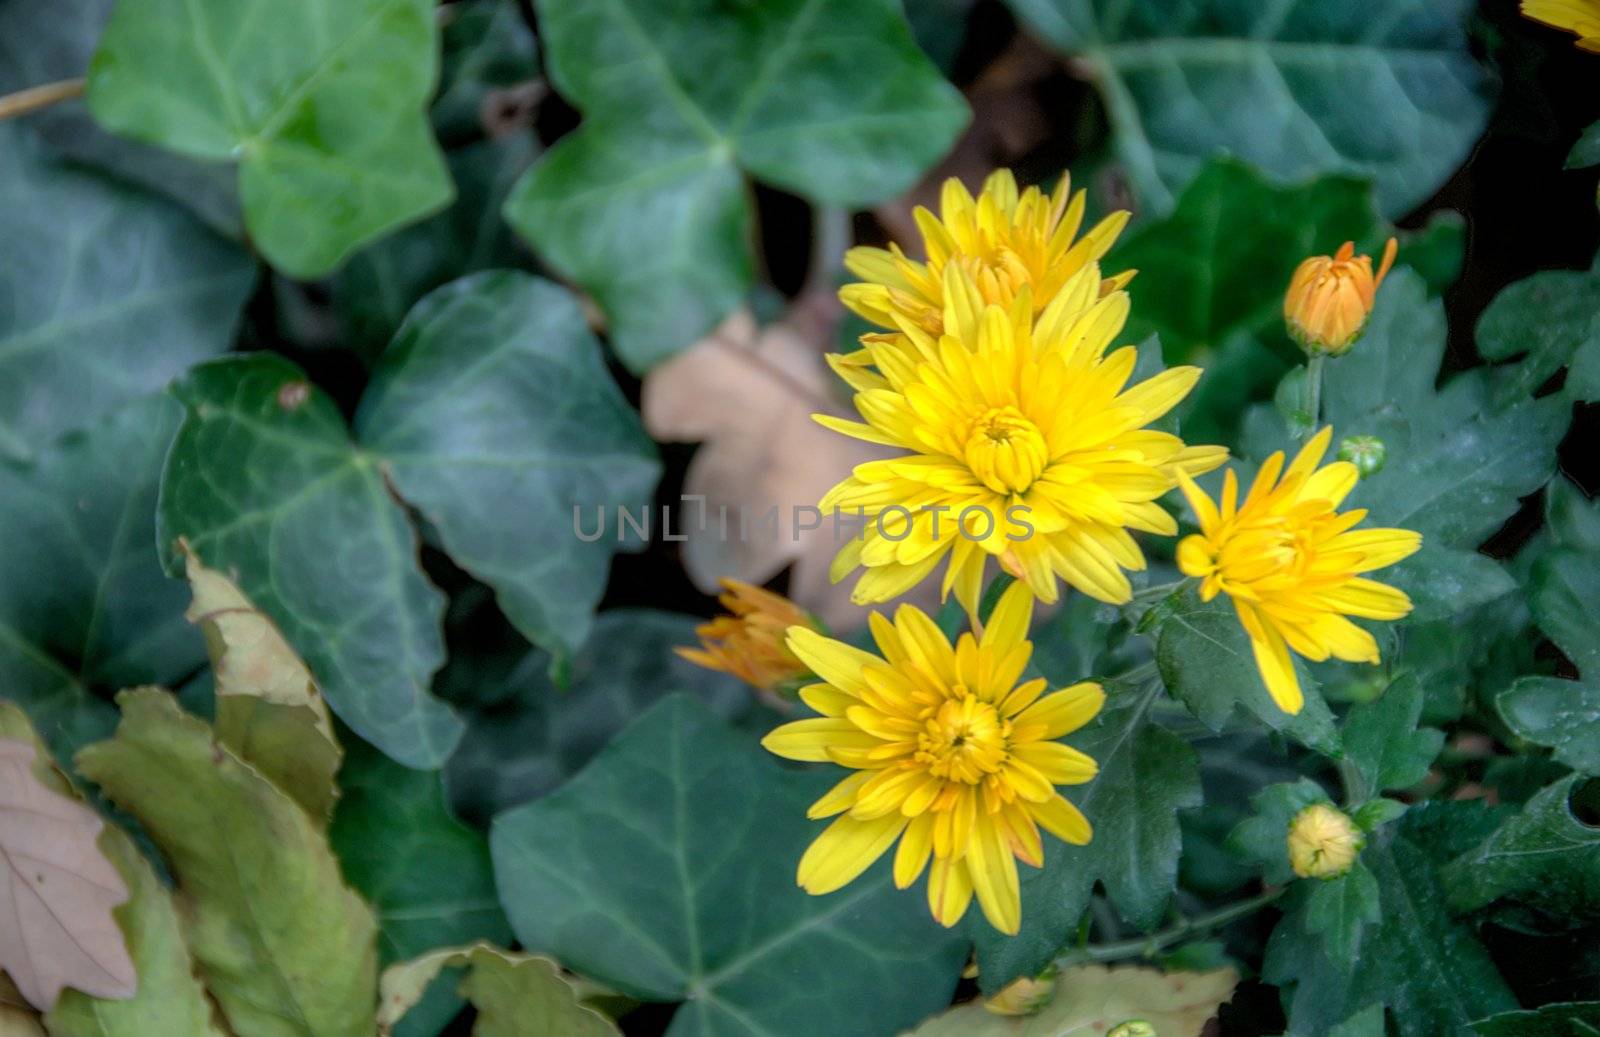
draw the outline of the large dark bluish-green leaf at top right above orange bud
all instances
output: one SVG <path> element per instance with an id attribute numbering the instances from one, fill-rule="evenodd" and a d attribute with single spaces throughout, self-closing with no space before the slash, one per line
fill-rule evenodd
<path id="1" fill-rule="evenodd" d="M 1400 216 L 1432 195 L 1488 122 L 1467 50 L 1470 0 L 1010 0 L 1101 90 L 1146 208 L 1173 208 L 1229 152 L 1274 176 L 1371 178 Z"/>

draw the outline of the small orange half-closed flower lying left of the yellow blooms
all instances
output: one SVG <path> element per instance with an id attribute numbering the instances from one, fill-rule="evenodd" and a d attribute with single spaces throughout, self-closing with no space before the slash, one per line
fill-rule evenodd
<path id="1" fill-rule="evenodd" d="M 816 629 L 816 621 L 789 599 L 752 587 L 738 579 L 722 581 L 718 599 L 731 615 L 717 616 L 694 627 L 701 648 L 678 648 L 677 653 L 706 669 L 733 674 L 739 680 L 774 691 L 803 677 L 805 663 L 789 651 L 789 627 Z"/>

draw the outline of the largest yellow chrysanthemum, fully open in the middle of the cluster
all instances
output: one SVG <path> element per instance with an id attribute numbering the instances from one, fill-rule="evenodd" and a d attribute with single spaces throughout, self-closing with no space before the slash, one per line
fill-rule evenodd
<path id="1" fill-rule="evenodd" d="M 965 270 L 947 266 L 946 334 L 902 322 L 906 346 L 864 342 L 870 358 L 835 358 L 866 422 L 819 414 L 830 429 L 909 451 L 861 464 L 822 498 L 824 510 L 872 522 L 845 544 L 832 578 L 864 567 L 858 603 L 904 594 L 949 559 L 944 594 L 978 608 L 994 557 L 1045 602 L 1058 578 L 1102 602 L 1133 592 L 1142 570 L 1130 530 L 1178 531 L 1157 498 L 1176 474 L 1208 472 L 1221 446 L 1186 446 L 1146 429 L 1194 387 L 1179 366 L 1128 386 L 1136 350 L 1107 355 L 1128 317 L 1128 294 L 1099 298 L 1085 267 L 1038 322 L 1024 290 L 1010 310 L 987 304 Z"/>

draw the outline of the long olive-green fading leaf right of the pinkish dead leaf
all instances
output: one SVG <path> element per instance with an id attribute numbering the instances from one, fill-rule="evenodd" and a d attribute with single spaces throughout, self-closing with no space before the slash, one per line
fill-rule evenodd
<path id="1" fill-rule="evenodd" d="M 178 880 L 206 991 L 240 1037 L 373 1032 L 371 911 L 299 803 L 166 691 L 118 696 L 117 736 L 78 770 L 133 813 Z"/>

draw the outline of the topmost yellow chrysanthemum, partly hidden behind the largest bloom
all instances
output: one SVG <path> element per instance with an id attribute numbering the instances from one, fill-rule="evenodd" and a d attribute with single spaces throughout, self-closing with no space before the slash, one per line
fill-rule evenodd
<path id="1" fill-rule="evenodd" d="M 950 178 L 944 181 L 938 216 L 920 205 L 915 211 L 928 261 L 906 258 L 898 245 L 851 248 L 845 266 L 862 280 L 845 285 L 838 298 L 883 328 L 909 323 L 941 334 L 944 274 L 954 266 L 966 272 L 984 302 L 1010 307 L 1027 290 L 1034 310 L 1042 312 L 1080 270 L 1099 262 L 1128 224 L 1128 213 L 1112 213 L 1074 242 L 1083 226 L 1083 208 L 1085 192 L 1074 195 L 1067 174 L 1045 195 L 1038 187 L 1018 192 L 1011 171 L 997 170 L 978 198 Z M 1131 278 L 1131 270 L 1120 274 L 1104 290 L 1122 288 Z"/>

